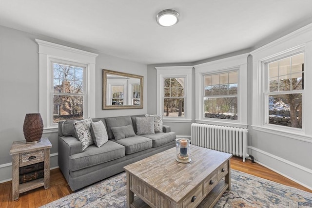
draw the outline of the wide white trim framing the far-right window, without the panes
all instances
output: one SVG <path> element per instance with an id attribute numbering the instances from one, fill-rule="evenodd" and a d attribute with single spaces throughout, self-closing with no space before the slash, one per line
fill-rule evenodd
<path id="1" fill-rule="evenodd" d="M 312 79 L 312 24 L 309 24 L 283 38 L 279 38 L 257 50 L 254 50 L 253 56 L 253 120 L 252 126 L 254 130 L 272 132 L 276 135 L 282 135 L 298 140 L 312 139 L 312 117 L 306 116 L 312 114 L 312 108 L 308 107 L 308 103 L 312 103 L 312 82 L 305 81 L 306 92 L 302 97 L 302 129 L 281 127 L 273 124 L 266 124 L 266 111 L 264 103 L 264 93 L 266 77 L 265 63 L 274 57 L 281 57 L 292 52 L 303 51 L 305 53 L 305 80 Z M 272 130 L 276 130 L 276 132 Z M 299 136 L 300 135 L 300 136 Z"/>

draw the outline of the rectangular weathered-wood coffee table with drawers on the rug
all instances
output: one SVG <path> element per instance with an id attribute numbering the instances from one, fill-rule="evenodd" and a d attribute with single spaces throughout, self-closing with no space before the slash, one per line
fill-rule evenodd
<path id="1" fill-rule="evenodd" d="M 172 148 L 125 166 L 127 208 L 213 207 L 231 189 L 231 157 L 191 145 L 190 163 L 177 162 Z"/>

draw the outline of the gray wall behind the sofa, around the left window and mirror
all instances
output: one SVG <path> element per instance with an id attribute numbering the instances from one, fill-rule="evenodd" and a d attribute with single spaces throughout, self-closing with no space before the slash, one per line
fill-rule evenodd
<path id="1" fill-rule="evenodd" d="M 0 181 L 10 179 L 13 141 L 24 140 L 26 113 L 39 112 L 39 55 L 35 38 L 99 54 L 96 58 L 97 117 L 147 113 L 147 66 L 98 53 L 79 45 L 0 26 Z M 144 108 L 135 110 L 102 110 L 102 69 L 144 76 Z M 52 143 L 51 154 L 57 156 L 57 132 L 44 133 Z M 58 166 L 51 157 L 51 167 Z"/>

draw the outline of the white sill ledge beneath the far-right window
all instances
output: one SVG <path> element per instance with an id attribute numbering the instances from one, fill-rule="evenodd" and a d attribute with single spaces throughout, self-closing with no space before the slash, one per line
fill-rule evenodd
<path id="1" fill-rule="evenodd" d="M 259 131 L 259 132 L 266 132 L 266 133 L 272 133 L 279 136 L 288 137 L 291 139 L 296 139 L 304 142 L 312 143 L 312 136 L 305 135 L 303 133 L 297 133 L 297 132 L 290 132 L 290 131 L 284 131 L 284 130 L 277 130 L 269 127 L 263 127 L 263 126 L 253 126 L 253 130 Z"/>

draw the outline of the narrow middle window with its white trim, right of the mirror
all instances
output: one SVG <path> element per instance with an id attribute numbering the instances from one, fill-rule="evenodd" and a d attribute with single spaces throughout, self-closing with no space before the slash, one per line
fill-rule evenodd
<path id="1" fill-rule="evenodd" d="M 155 67 L 157 114 L 165 122 L 192 122 L 193 66 Z"/>

